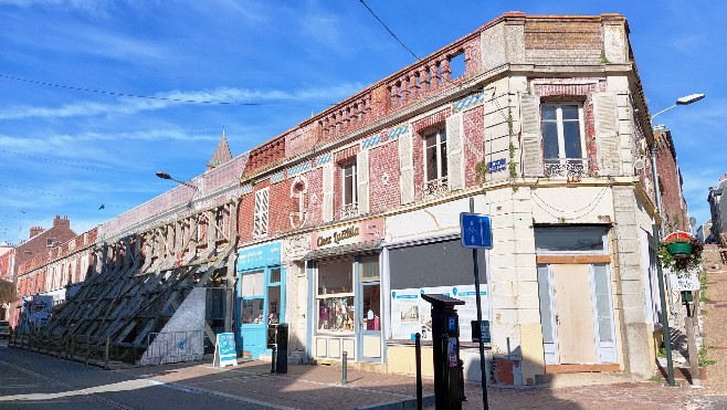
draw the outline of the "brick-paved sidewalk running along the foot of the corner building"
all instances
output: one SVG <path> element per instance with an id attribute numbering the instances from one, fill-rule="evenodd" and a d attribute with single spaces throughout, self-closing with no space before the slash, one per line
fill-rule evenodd
<path id="1" fill-rule="evenodd" d="M 412 377 L 349 370 L 349 382 L 341 386 L 340 367 L 289 366 L 285 375 L 271 375 L 270 364 L 256 360 L 223 369 L 198 362 L 117 371 L 170 388 L 220 395 L 236 400 L 240 408 L 247 402 L 274 409 L 400 409 L 401 402 L 415 399 L 417 391 Z M 424 396 L 432 396 L 433 390 L 433 381 L 425 379 Z M 465 396 L 464 409 L 483 408 L 480 385 L 467 383 Z M 668 388 L 617 374 L 568 375 L 552 387 L 489 388 L 487 396 L 491 409 L 668 410 L 687 408 L 689 399 L 688 387 Z"/>

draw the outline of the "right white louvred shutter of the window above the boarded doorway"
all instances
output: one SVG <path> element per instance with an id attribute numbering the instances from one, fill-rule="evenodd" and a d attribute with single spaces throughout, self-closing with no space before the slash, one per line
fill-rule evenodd
<path id="1" fill-rule="evenodd" d="M 613 93 L 593 94 L 593 119 L 599 153 L 599 175 L 621 175 L 615 95 Z"/>

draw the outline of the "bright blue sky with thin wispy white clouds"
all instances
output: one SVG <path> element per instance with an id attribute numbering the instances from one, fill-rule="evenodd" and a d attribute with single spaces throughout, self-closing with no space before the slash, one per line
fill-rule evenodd
<path id="1" fill-rule="evenodd" d="M 624 14 L 652 114 L 707 95 L 657 123 L 689 213 L 709 218 L 727 172 L 726 2 L 366 2 L 419 57 L 510 10 Z M 414 62 L 358 0 L 0 0 L 0 241 L 13 243 L 56 214 L 82 233 L 173 188 L 158 170 L 203 172 L 223 127 L 238 156 Z"/>

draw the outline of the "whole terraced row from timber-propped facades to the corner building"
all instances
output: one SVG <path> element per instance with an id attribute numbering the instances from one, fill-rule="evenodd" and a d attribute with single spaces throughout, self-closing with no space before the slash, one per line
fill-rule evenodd
<path id="1" fill-rule="evenodd" d="M 346 351 L 400 374 L 420 333 L 430 375 L 421 295 L 447 294 L 480 379 L 460 243 L 473 199 L 493 224 L 478 257 L 491 381 L 651 376 L 653 144 L 622 15 L 509 12 L 249 153 L 223 136 L 188 186 L 21 264 L 18 287 L 82 282 L 50 328 L 108 336 L 126 360 L 159 360 L 154 340 L 187 330 L 266 357 L 268 325 L 286 323 L 291 361 Z"/>

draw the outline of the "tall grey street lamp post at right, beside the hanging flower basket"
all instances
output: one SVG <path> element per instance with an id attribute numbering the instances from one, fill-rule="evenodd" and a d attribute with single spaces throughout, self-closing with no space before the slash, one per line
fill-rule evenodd
<path id="1" fill-rule="evenodd" d="M 664 108 L 658 113 L 651 116 L 651 122 L 654 122 L 654 117 L 665 113 L 678 105 L 689 105 L 696 103 L 699 99 L 704 98 L 704 94 L 691 94 L 684 97 L 677 98 L 676 103 L 668 108 Z M 655 141 L 654 141 L 655 143 Z M 658 243 L 661 242 L 661 220 L 662 220 L 662 192 L 658 188 L 658 169 L 656 167 L 656 144 L 652 145 L 651 148 L 651 165 L 652 165 L 652 177 L 654 183 L 654 196 L 656 198 L 656 211 L 658 212 L 660 223 L 654 223 L 653 227 L 653 236 L 654 236 L 654 249 L 658 249 Z M 666 316 L 666 295 L 664 294 L 664 274 L 662 272 L 662 263 L 656 257 L 656 276 L 658 278 L 658 297 L 661 298 L 662 307 L 662 332 L 664 337 L 664 350 L 666 353 L 666 370 L 667 377 L 666 382 L 668 386 L 674 387 L 674 361 L 672 360 L 672 333 L 668 327 L 668 316 Z"/>

